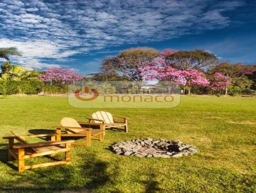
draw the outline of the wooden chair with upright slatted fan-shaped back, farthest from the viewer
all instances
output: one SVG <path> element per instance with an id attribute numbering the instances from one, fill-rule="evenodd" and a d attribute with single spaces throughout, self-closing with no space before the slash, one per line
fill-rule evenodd
<path id="1" fill-rule="evenodd" d="M 122 119 L 123 121 L 116 121 L 116 118 Z M 124 130 L 125 132 L 128 132 L 128 119 L 124 116 L 116 116 L 112 115 L 109 112 L 105 111 L 97 111 L 92 114 L 92 118 L 87 118 L 89 120 L 89 123 L 86 123 L 86 125 L 99 125 L 104 124 L 103 130 L 105 128 L 113 128 L 116 130 Z M 118 128 L 118 127 L 124 127 L 124 128 Z"/>

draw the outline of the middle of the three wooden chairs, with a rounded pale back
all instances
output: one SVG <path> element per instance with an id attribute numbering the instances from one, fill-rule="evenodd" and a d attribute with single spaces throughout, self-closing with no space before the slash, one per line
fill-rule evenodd
<path id="1" fill-rule="evenodd" d="M 61 141 L 61 137 L 82 137 L 86 139 L 86 143 L 72 143 L 74 145 L 91 146 L 92 139 L 99 139 L 100 141 L 104 138 L 103 127 L 100 129 L 83 128 L 81 125 L 84 123 L 78 123 L 73 118 L 63 118 L 61 120 L 61 127 L 56 128 L 57 141 Z M 61 133 L 61 129 L 65 129 L 65 133 Z"/>

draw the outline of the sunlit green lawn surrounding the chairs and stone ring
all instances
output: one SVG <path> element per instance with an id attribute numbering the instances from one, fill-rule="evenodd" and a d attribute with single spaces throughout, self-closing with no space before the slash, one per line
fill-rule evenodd
<path id="1" fill-rule="evenodd" d="M 0 98 L 0 109 L 1 138 L 10 135 L 10 130 L 21 135 L 32 134 L 35 129 L 50 130 L 64 116 L 85 121 L 99 110 L 71 107 L 64 96 L 9 96 Z M 100 110 L 128 116 L 129 133 L 109 130 L 106 139 L 93 141 L 92 147 L 72 146 L 70 165 L 42 167 L 19 174 L 7 163 L 7 141 L 0 139 L 0 189 L 14 192 L 17 189 L 26 192 L 35 189 L 43 192 L 48 189 L 49 192 L 255 191 L 256 98 L 182 96 L 180 105 L 172 109 Z M 179 139 L 196 146 L 200 152 L 191 157 L 165 159 L 125 157 L 109 150 L 113 142 L 141 137 Z M 33 163 L 44 161 L 50 159 L 31 159 Z"/>

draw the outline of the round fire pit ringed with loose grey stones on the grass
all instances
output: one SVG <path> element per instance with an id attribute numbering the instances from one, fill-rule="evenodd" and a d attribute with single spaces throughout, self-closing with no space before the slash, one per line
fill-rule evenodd
<path id="1" fill-rule="evenodd" d="M 198 151 L 194 146 L 184 144 L 181 141 L 153 140 L 151 138 L 120 141 L 112 144 L 111 150 L 118 155 L 163 158 L 193 155 Z"/>

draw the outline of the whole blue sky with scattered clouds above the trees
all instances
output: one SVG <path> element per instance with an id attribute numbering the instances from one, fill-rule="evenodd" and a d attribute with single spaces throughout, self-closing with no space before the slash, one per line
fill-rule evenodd
<path id="1" fill-rule="evenodd" d="M 134 47 L 202 49 L 221 61 L 256 64 L 256 1 L 0 0 L 0 47 L 13 65 L 100 71 Z"/>

